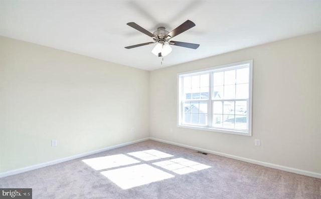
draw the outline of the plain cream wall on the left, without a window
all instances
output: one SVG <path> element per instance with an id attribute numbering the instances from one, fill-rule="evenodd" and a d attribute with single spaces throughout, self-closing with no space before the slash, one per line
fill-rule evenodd
<path id="1" fill-rule="evenodd" d="M 0 172 L 148 137 L 148 76 L 0 37 Z"/>

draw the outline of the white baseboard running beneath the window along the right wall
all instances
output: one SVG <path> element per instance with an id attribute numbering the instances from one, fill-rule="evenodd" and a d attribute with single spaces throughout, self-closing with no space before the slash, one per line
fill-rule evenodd
<path id="1" fill-rule="evenodd" d="M 194 147 L 194 146 L 190 146 L 190 145 L 180 144 L 180 143 L 177 143 L 177 142 L 171 142 L 171 141 L 158 139 L 158 138 L 154 138 L 154 137 L 149 137 L 149 139 L 154 140 L 154 141 L 158 141 L 158 142 L 164 142 L 164 143 L 167 143 L 167 144 L 173 144 L 173 145 L 181 146 L 181 147 L 185 147 L 185 148 L 190 148 L 190 149 L 194 149 L 194 150 L 198 150 L 198 151 L 204 151 L 204 152 L 207 152 L 207 153 L 212 153 L 212 154 L 215 154 L 215 155 L 229 157 L 229 158 L 232 158 L 232 159 L 237 159 L 237 160 L 241 160 L 241 161 L 245 161 L 245 162 L 249 162 L 249 163 L 253 163 L 253 164 L 258 164 L 258 165 L 262 165 L 262 166 L 266 166 L 266 167 L 270 167 L 270 168 L 276 168 L 276 169 L 279 169 L 279 170 L 284 170 L 284 171 L 288 171 L 288 172 L 292 172 L 292 173 L 297 173 L 297 174 L 301 174 L 301 175 L 307 175 L 307 176 L 310 176 L 310 177 L 321 178 L 321 173 L 315 173 L 315 172 L 311 172 L 311 171 L 307 171 L 307 170 L 301 170 L 301 169 L 282 166 L 282 165 L 278 165 L 278 164 L 272 164 L 272 163 L 268 163 L 268 162 L 258 161 L 258 160 L 254 160 L 254 159 L 249 159 L 249 158 L 245 158 L 245 157 L 240 157 L 240 156 L 231 155 L 231 154 L 222 153 L 222 152 L 217 152 L 217 151 L 212 151 L 212 150 L 207 150 L 207 149 L 204 149 L 204 148 L 199 148 L 199 147 Z"/>

